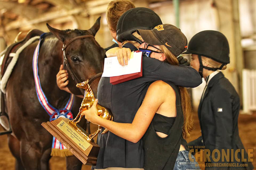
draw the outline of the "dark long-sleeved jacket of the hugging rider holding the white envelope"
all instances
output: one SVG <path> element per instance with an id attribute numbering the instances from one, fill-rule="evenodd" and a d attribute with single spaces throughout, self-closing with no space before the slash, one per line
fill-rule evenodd
<path id="1" fill-rule="evenodd" d="M 130 46 L 132 45 L 130 44 Z M 135 47 L 134 49 L 129 48 L 132 51 L 137 50 Z M 181 74 L 182 76 L 180 76 Z M 109 77 L 100 79 L 97 95 L 99 104 L 112 112 L 114 122 L 132 123 L 150 82 L 160 79 L 173 81 L 184 87 L 195 87 L 202 82 L 198 72 L 191 67 L 169 65 L 143 56 L 143 77 L 117 85 L 112 85 Z M 129 142 L 108 131 L 106 134 L 99 133 L 97 144 L 100 149 L 96 169 L 107 167 L 143 168 L 143 140 L 137 143 Z"/>

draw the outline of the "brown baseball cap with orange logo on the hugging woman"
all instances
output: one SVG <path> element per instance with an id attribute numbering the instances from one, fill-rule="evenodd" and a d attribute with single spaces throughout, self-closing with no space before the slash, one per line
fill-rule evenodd
<path id="1" fill-rule="evenodd" d="M 164 45 L 176 57 L 187 50 L 188 40 L 179 28 L 161 24 L 151 30 L 138 29 L 138 34 L 150 45 Z"/>

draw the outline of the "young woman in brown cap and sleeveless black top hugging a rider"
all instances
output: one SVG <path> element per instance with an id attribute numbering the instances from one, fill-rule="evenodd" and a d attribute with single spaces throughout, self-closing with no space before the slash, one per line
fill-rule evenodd
<path id="1" fill-rule="evenodd" d="M 140 51 L 152 59 L 178 65 L 177 56 L 186 50 L 187 39 L 177 27 L 164 24 L 151 30 L 138 30 L 138 33 L 144 40 Z M 162 80 L 152 82 L 132 123 L 102 119 L 97 115 L 97 102 L 82 112 L 85 119 L 130 142 L 143 138 L 145 170 L 200 169 L 186 150 L 184 140 L 192 130 L 190 96 L 186 88 Z"/>

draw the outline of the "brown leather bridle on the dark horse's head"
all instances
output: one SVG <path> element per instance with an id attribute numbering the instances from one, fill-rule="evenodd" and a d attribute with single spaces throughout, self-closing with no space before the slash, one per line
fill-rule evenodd
<path id="1" fill-rule="evenodd" d="M 96 45 L 98 45 L 100 47 L 99 43 L 96 42 L 95 37 L 93 35 L 83 35 L 83 36 L 75 37 L 75 38 L 71 39 L 69 42 L 67 42 L 66 45 L 63 44 L 63 48 L 62 48 L 62 51 L 63 51 L 63 69 L 65 69 L 65 66 L 67 67 L 67 70 L 70 72 L 70 75 L 71 75 L 72 79 L 75 80 L 76 83 L 80 83 L 80 82 L 82 82 L 82 80 L 79 79 L 79 77 L 76 76 L 76 74 L 74 73 L 72 68 L 70 68 L 70 65 L 67 62 L 67 57 L 66 57 L 66 54 L 65 54 L 65 49 L 67 48 L 68 45 L 70 45 L 71 42 L 73 42 L 75 40 L 78 40 L 78 39 L 81 39 L 81 38 L 93 38 L 93 40 L 96 43 Z M 98 74 L 94 75 L 93 77 L 91 77 L 89 79 L 88 84 L 90 84 L 91 82 L 93 82 L 93 80 L 95 80 L 96 78 L 98 78 L 100 76 L 102 76 L 102 73 L 98 73 Z M 79 90 L 84 95 L 84 91 L 81 88 L 79 88 Z"/>

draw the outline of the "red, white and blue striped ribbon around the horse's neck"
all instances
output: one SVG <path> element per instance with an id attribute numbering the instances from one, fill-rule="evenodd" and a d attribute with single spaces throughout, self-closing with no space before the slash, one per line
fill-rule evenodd
<path id="1" fill-rule="evenodd" d="M 36 94 L 38 96 L 38 100 L 39 100 L 40 104 L 42 105 L 42 107 L 44 108 L 44 110 L 50 116 L 50 121 L 58 119 L 59 117 L 73 119 L 73 114 L 71 113 L 71 109 L 72 109 L 73 102 L 74 102 L 74 95 L 70 94 L 70 98 L 67 101 L 67 104 L 65 105 L 64 108 L 57 109 L 49 104 L 47 97 L 45 96 L 44 91 L 41 87 L 41 82 L 40 82 L 40 78 L 39 78 L 39 74 L 38 74 L 38 54 L 39 54 L 39 49 L 40 49 L 40 45 L 41 45 L 41 40 L 42 40 L 44 34 L 42 34 L 40 36 L 40 40 L 38 42 L 37 47 L 35 48 L 35 52 L 33 55 L 33 73 L 34 73 L 35 89 L 36 89 Z M 66 147 L 64 147 L 64 145 L 61 144 L 55 137 L 53 137 L 52 148 L 66 149 Z"/>

